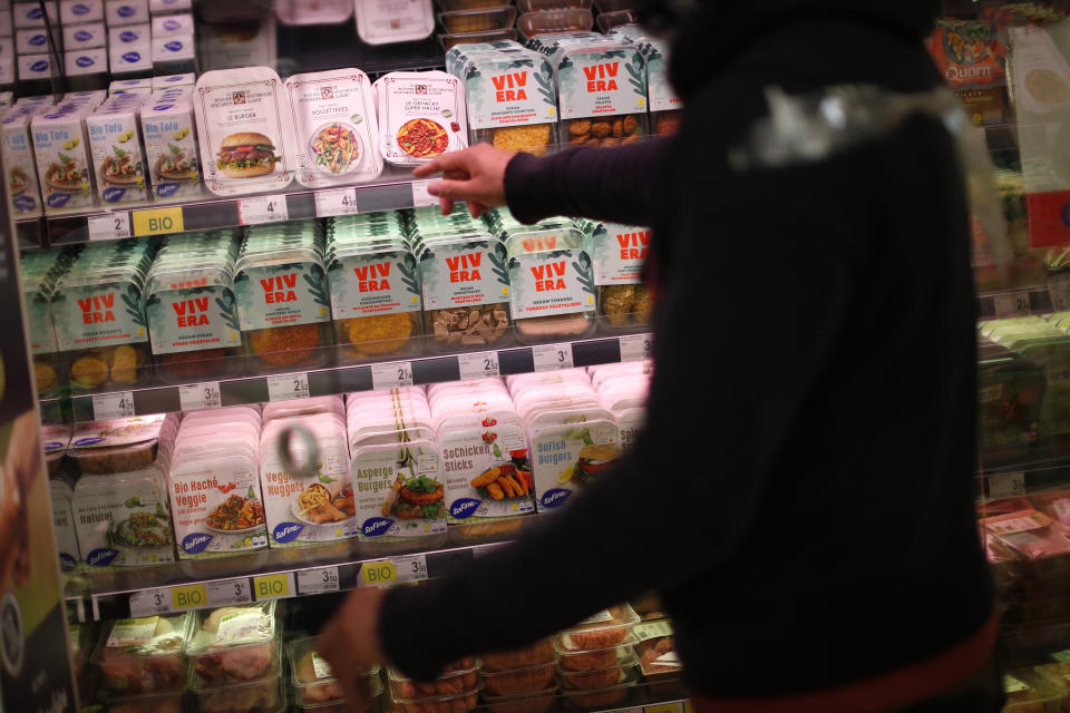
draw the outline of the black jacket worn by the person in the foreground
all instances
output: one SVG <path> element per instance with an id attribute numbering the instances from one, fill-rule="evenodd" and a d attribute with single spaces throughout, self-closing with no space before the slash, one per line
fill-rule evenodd
<path id="1" fill-rule="evenodd" d="M 651 4 L 683 28 L 681 133 L 522 155 L 506 175 L 522 219 L 652 225 L 645 430 L 545 527 L 390 592 L 386 652 L 427 676 L 649 589 L 689 684 L 719 701 L 840 688 L 954 649 L 991 621 L 992 594 L 972 511 L 973 283 L 953 144 L 916 118 L 818 163 L 727 162 L 767 114 L 766 87 L 936 86 L 921 43 L 933 12 Z"/>

